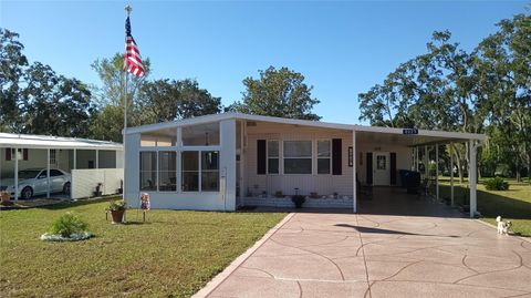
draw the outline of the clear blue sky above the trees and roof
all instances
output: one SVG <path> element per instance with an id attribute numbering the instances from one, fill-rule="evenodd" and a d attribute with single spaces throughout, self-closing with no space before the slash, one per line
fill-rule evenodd
<path id="1" fill-rule="evenodd" d="M 0 25 L 30 61 L 98 83 L 91 63 L 124 48 L 124 6 L 152 79 L 197 79 L 223 104 L 269 65 L 301 72 L 323 121 L 358 123 L 357 94 L 424 53 L 434 30 L 472 49 L 529 1 L 4 1 Z"/>

